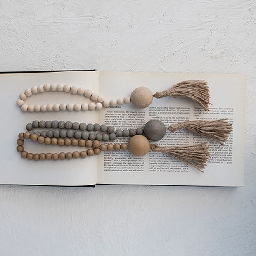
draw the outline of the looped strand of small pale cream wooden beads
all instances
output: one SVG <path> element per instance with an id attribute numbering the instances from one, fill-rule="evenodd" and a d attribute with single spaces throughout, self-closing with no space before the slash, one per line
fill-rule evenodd
<path id="1" fill-rule="evenodd" d="M 93 102 L 90 104 L 88 103 L 62 103 L 62 104 L 30 104 L 27 105 L 25 104 L 25 100 L 27 97 L 30 97 L 31 95 L 43 92 L 71 92 L 72 94 L 78 94 L 78 95 L 83 95 L 84 97 L 90 98 Z M 33 86 L 31 89 L 26 89 L 24 92 L 22 92 L 19 95 L 19 99 L 17 100 L 17 105 L 21 107 L 21 111 L 23 112 L 46 112 L 46 111 L 92 111 L 92 110 L 99 110 L 107 107 L 116 107 L 117 105 L 122 106 L 124 103 L 125 104 L 130 104 L 130 97 L 125 97 L 125 98 L 119 98 L 118 100 L 111 99 L 109 100 L 104 100 L 104 97 L 101 95 L 98 95 L 95 92 L 92 92 L 90 89 L 86 89 L 83 87 L 77 87 L 75 85 L 70 86 L 68 84 L 63 85 L 63 84 L 49 84 L 46 83 L 45 85 L 38 85 L 38 86 Z"/>

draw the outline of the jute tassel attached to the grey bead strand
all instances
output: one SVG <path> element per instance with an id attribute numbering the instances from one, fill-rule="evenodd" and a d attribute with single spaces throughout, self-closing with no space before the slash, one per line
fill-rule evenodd
<path id="1" fill-rule="evenodd" d="M 232 132 L 232 123 L 228 119 L 218 119 L 213 121 L 185 121 L 182 123 L 172 124 L 167 130 L 175 132 L 176 130 L 187 129 L 204 137 L 209 137 L 224 146 L 228 136 Z"/>

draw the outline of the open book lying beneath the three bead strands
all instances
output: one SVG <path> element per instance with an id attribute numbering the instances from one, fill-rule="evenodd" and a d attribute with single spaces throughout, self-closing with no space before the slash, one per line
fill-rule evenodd
<path id="1" fill-rule="evenodd" d="M 146 86 L 152 92 L 166 90 L 183 80 L 202 79 L 208 82 L 211 94 L 210 111 L 206 112 L 186 98 L 154 99 L 145 109 L 132 104 L 95 111 L 22 112 L 16 100 L 26 88 L 45 83 L 63 83 L 84 87 L 105 99 L 130 96 L 133 89 Z M 62 71 L 39 73 L 2 73 L 0 126 L 0 184 L 85 186 L 95 184 L 202 185 L 242 186 L 244 184 L 244 108 L 246 76 L 206 73 L 124 73 L 97 71 Z M 84 103 L 87 98 L 65 92 L 36 94 L 26 104 Z M 33 120 L 58 120 L 113 125 L 115 129 L 143 127 L 150 119 L 159 119 L 166 126 L 185 120 L 228 118 L 233 132 L 225 146 L 194 135 L 187 130 L 166 132 L 157 144 L 192 145 L 208 142 L 211 157 L 200 173 L 195 168 L 158 152 L 134 157 L 127 152 L 102 152 L 85 159 L 28 161 L 16 151 L 17 135 L 25 132 Z M 122 138 L 115 142 L 128 142 Z M 31 141 L 25 150 L 41 152 L 81 151 L 81 147 L 46 146 Z"/>

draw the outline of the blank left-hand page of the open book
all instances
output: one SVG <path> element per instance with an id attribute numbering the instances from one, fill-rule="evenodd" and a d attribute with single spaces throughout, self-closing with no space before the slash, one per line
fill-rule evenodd
<path id="1" fill-rule="evenodd" d="M 96 123 L 96 111 L 22 112 L 16 101 L 26 88 L 45 83 L 62 83 L 98 90 L 98 72 L 66 71 L 49 73 L 0 74 L 1 126 L 0 126 L 0 184 L 26 185 L 92 185 L 97 180 L 97 157 L 58 161 L 29 161 L 16 151 L 18 134 L 26 131 L 26 124 L 33 120 L 57 120 Z M 84 103 L 83 95 L 66 92 L 37 93 L 26 99 L 26 104 Z M 90 102 L 90 101 L 88 101 Z M 47 130 L 41 129 L 41 130 Z M 54 130 L 51 128 L 51 130 Z M 81 147 L 40 145 L 25 140 L 24 149 L 32 153 L 73 152 Z"/>

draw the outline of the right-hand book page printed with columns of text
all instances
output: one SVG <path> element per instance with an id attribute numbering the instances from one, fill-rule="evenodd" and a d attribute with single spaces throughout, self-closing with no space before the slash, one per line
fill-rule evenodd
<path id="1" fill-rule="evenodd" d="M 208 82 L 211 94 L 209 112 L 187 98 L 153 99 L 146 109 L 132 104 L 111 107 L 99 113 L 101 123 L 120 128 L 143 127 L 150 119 L 158 119 L 166 126 L 185 120 L 214 120 L 228 118 L 233 123 L 225 146 L 187 130 L 166 131 L 156 142 L 161 146 L 192 145 L 206 141 L 211 157 L 205 173 L 162 153 L 149 151 L 144 157 L 127 152 L 105 152 L 98 160 L 98 180 L 102 184 L 202 185 L 242 186 L 244 183 L 244 107 L 245 75 L 205 73 L 111 73 L 100 72 L 99 91 L 107 99 L 130 96 L 145 86 L 152 92 L 167 90 L 184 80 L 201 79 Z M 128 138 L 115 140 L 128 142 Z M 151 142 L 152 143 L 152 142 Z M 154 142 L 155 143 L 155 142 Z"/>

